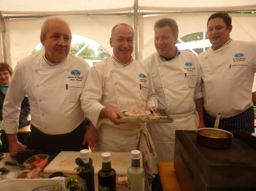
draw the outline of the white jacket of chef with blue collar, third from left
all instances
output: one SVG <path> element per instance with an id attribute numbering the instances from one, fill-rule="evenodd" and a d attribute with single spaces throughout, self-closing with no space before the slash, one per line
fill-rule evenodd
<path id="1" fill-rule="evenodd" d="M 144 59 L 158 95 L 158 109 L 184 114 L 196 109 L 194 100 L 202 97 L 202 79 L 197 58 L 180 51 L 174 59 L 162 61 L 156 52 Z"/>

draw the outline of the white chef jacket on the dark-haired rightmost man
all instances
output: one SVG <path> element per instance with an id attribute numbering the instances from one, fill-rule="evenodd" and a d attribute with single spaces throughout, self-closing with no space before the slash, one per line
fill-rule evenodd
<path id="1" fill-rule="evenodd" d="M 256 43 L 230 39 L 217 50 L 198 55 L 203 79 L 204 108 L 213 115 L 236 115 L 253 105 Z"/>

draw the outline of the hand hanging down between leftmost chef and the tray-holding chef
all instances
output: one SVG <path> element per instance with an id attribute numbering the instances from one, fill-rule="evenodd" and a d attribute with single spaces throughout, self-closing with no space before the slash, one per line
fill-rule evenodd
<path id="1" fill-rule="evenodd" d="M 88 128 L 88 130 L 86 131 L 86 134 L 84 135 L 84 141 L 82 145 L 85 145 L 86 142 L 88 142 L 88 145 L 91 151 L 94 153 L 98 151 L 98 148 L 97 148 L 98 141 L 99 141 L 98 129 L 96 129 L 94 125 L 90 122 L 90 127 Z"/>

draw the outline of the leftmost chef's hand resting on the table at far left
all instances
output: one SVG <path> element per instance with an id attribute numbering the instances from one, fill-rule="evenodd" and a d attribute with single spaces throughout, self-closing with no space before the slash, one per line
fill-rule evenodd
<path id="1" fill-rule="evenodd" d="M 8 142 L 9 142 L 10 156 L 12 157 L 17 156 L 20 150 L 27 148 L 25 145 L 22 145 L 20 142 L 18 142 L 17 134 L 7 134 L 7 136 L 8 136 Z"/>

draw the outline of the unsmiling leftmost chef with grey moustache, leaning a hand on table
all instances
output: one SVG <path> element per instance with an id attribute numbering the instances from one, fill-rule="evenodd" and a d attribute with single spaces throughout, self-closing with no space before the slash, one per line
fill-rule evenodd
<path id="1" fill-rule="evenodd" d="M 25 95 L 31 110 L 29 148 L 43 152 L 86 148 L 82 146 L 86 122 L 80 95 L 89 66 L 84 59 L 69 54 L 71 37 L 64 20 L 47 19 L 40 36 L 45 52 L 17 63 L 0 124 L 8 134 L 11 156 L 26 148 L 16 137 L 20 104 Z"/>

